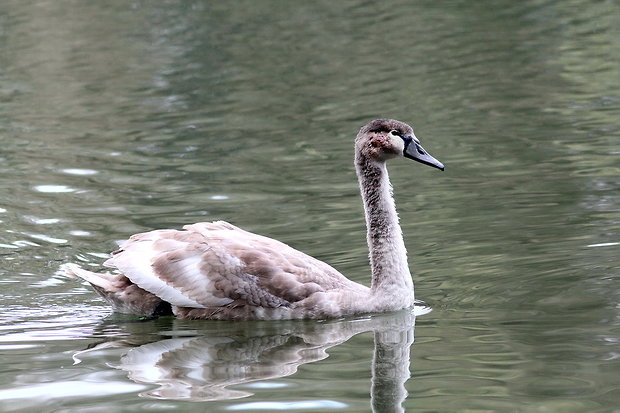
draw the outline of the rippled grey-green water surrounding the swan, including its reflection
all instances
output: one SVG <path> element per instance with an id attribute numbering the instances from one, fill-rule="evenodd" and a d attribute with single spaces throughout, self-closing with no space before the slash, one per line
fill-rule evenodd
<path id="1" fill-rule="evenodd" d="M 619 411 L 619 15 L 3 2 L 0 411 Z M 446 164 L 390 168 L 415 334 L 139 321 L 57 274 L 224 219 L 367 283 L 352 139 L 382 116 Z"/>

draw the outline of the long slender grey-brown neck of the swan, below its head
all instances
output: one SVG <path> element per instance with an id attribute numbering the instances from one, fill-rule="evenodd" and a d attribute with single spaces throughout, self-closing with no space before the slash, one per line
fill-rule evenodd
<path id="1" fill-rule="evenodd" d="M 413 301 L 407 250 L 386 164 L 358 154 L 356 170 L 366 216 L 372 269 L 371 291 L 375 294 L 398 294 L 405 300 Z"/>

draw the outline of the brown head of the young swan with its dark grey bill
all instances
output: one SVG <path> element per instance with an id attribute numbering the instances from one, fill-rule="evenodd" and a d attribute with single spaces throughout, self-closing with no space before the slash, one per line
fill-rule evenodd
<path id="1" fill-rule="evenodd" d="M 356 153 L 378 162 L 405 157 L 444 170 L 444 166 L 420 145 L 413 128 L 395 119 L 376 119 L 360 129 Z"/>

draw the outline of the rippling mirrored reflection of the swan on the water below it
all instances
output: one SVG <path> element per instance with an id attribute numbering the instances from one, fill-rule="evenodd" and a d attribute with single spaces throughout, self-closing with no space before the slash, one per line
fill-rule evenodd
<path id="1" fill-rule="evenodd" d="M 158 387 L 143 397 L 185 401 L 227 400 L 253 393 L 233 388 L 245 383 L 294 374 L 303 364 L 328 357 L 330 347 L 365 332 L 374 333 L 371 397 L 373 411 L 404 411 L 409 379 L 409 351 L 413 344 L 416 313 L 396 313 L 326 321 L 200 323 L 170 320 L 172 331 L 144 334 L 157 329 L 153 322 L 124 323 L 132 339 L 108 341 L 74 355 L 111 347 L 131 347 L 114 367 L 138 383 Z M 426 308 L 426 311 L 429 311 Z M 160 326 L 161 327 L 161 326 Z M 132 331 L 141 330 L 141 331 Z M 171 337 L 157 340 L 161 334 Z M 148 342 L 149 338 L 152 342 Z M 136 342 L 147 341 L 146 343 Z"/>

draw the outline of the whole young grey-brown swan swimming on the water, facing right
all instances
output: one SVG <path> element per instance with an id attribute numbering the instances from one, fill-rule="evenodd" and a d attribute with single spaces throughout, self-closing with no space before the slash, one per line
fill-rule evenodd
<path id="1" fill-rule="evenodd" d="M 355 139 L 355 169 L 370 250 L 370 287 L 288 245 L 228 222 L 133 235 L 104 262 L 114 273 L 75 264 L 65 273 L 89 282 L 115 311 L 180 319 L 324 319 L 414 305 L 413 280 L 386 161 L 405 157 L 444 170 L 411 126 L 377 119 Z"/>

